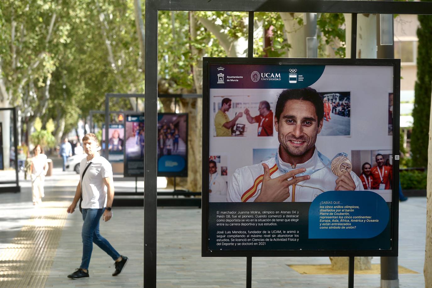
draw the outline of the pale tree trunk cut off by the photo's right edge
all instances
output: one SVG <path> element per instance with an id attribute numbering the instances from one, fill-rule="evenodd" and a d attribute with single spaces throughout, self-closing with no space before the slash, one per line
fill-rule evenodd
<path id="1" fill-rule="evenodd" d="M 432 107 L 432 103 L 431 103 Z M 431 109 L 432 110 L 432 109 Z M 431 114 L 432 116 L 432 114 Z M 426 195 L 426 249 L 425 249 L 425 266 L 423 274 L 425 275 L 425 287 L 432 286 L 432 117 L 429 118 L 429 146 L 428 146 L 428 177 L 427 177 L 427 195 Z"/>

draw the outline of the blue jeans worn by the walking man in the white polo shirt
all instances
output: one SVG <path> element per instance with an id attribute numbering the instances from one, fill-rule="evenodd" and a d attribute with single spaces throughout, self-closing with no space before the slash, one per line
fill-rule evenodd
<path id="1" fill-rule="evenodd" d="M 83 209 L 83 259 L 79 268 L 89 269 L 90 258 L 92 257 L 93 242 L 104 250 L 115 261 L 120 254 L 99 234 L 99 220 L 104 213 L 103 209 Z"/>

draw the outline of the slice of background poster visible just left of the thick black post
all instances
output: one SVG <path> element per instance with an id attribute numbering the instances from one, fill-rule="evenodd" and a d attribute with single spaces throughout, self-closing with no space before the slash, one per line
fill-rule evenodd
<path id="1" fill-rule="evenodd" d="M 144 177 L 144 114 L 125 117 L 124 177 Z"/>

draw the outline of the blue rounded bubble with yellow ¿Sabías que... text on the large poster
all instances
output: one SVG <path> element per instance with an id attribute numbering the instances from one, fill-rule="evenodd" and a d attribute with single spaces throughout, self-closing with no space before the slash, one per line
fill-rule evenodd
<path id="1" fill-rule="evenodd" d="M 327 191 L 309 208 L 310 239 L 372 238 L 390 218 L 385 200 L 371 191 Z"/>

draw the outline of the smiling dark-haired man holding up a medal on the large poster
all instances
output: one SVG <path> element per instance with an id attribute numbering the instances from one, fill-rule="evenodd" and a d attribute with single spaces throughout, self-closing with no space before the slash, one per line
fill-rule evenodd
<path id="1" fill-rule="evenodd" d="M 283 90 L 274 118 L 280 143 L 276 156 L 238 168 L 229 182 L 227 201 L 312 202 L 325 191 L 363 190 L 354 172 L 333 174 L 331 160 L 315 147 L 323 117 L 324 103 L 315 89 Z"/>

